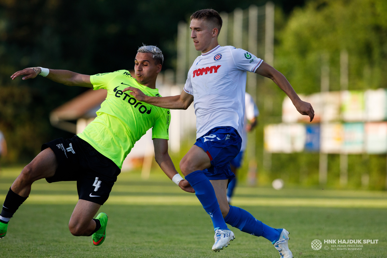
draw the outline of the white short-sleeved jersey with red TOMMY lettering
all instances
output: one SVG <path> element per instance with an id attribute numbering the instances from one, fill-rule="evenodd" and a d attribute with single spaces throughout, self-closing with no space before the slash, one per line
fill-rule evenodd
<path id="1" fill-rule="evenodd" d="M 196 138 L 217 126 L 232 126 L 242 136 L 246 71 L 262 62 L 241 48 L 219 45 L 195 59 L 184 91 L 194 96 Z"/>

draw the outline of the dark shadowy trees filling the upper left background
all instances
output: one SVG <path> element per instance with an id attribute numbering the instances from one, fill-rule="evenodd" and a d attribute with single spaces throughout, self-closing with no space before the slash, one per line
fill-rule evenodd
<path id="1" fill-rule="evenodd" d="M 0 0 L 0 130 L 9 144 L 6 162 L 30 161 L 42 143 L 71 137 L 52 128 L 48 114 L 85 90 L 40 76 L 12 81 L 12 73 L 34 66 L 85 74 L 131 69 L 142 43 L 160 46 L 163 69 L 174 68 L 178 21 L 199 9 L 231 12 L 265 2 Z M 273 2 L 289 13 L 304 0 Z"/>

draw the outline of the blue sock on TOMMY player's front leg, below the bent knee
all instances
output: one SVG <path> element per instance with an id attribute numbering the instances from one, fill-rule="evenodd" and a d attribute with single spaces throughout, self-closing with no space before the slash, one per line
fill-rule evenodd
<path id="1" fill-rule="evenodd" d="M 214 188 L 207 176 L 201 170 L 197 170 L 185 176 L 185 179 L 194 188 L 195 195 L 202 203 L 204 210 L 211 216 L 214 229 L 228 229 L 220 211 Z"/>

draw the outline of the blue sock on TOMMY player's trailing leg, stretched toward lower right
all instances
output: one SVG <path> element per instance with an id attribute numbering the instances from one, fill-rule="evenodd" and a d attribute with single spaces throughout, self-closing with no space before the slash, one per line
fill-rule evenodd
<path id="1" fill-rule="evenodd" d="M 227 224 L 238 228 L 242 232 L 254 236 L 263 236 L 271 242 L 275 241 L 280 234 L 277 229 L 263 224 L 261 221 L 255 219 L 249 212 L 231 205 L 224 221 L 226 221 Z"/>

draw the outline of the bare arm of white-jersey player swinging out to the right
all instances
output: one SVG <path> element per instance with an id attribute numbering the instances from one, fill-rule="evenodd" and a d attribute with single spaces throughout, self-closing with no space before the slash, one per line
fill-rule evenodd
<path id="1" fill-rule="evenodd" d="M 265 62 L 262 62 L 257 70 L 255 70 L 255 73 L 272 79 L 278 85 L 278 87 L 280 87 L 286 93 L 286 95 L 289 96 L 297 111 L 303 115 L 309 116 L 310 121 L 312 122 L 314 117 L 314 110 L 312 105 L 302 101 L 300 97 L 298 97 L 297 93 L 294 91 L 293 87 L 291 87 L 290 83 L 282 73 L 278 72 L 276 69 Z"/>

